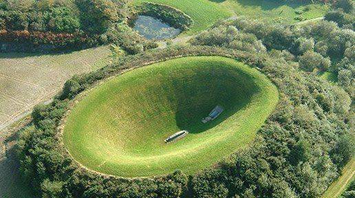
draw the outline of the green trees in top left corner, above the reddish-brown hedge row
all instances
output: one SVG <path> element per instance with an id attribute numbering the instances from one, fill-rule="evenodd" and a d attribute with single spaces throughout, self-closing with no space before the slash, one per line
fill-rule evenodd
<path id="1" fill-rule="evenodd" d="M 126 15 L 122 0 L 8 0 L 0 9 L 0 28 L 8 31 L 100 34 Z"/>

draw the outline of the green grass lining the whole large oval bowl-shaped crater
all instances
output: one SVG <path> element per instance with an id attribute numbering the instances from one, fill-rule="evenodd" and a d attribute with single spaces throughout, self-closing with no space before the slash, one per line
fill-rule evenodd
<path id="1" fill-rule="evenodd" d="M 194 173 L 242 148 L 278 101 L 256 69 L 199 56 L 156 63 L 109 80 L 69 113 L 63 139 L 88 168 L 122 177 Z M 225 111 L 202 124 L 217 104 Z M 164 139 L 186 129 L 182 140 Z"/>

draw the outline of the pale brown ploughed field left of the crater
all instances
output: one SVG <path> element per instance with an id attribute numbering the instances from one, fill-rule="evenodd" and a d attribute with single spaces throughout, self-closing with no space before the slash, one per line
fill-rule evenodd
<path id="1" fill-rule="evenodd" d="M 74 74 L 106 64 L 108 47 L 59 55 L 0 54 L 0 129 L 54 96 Z"/>

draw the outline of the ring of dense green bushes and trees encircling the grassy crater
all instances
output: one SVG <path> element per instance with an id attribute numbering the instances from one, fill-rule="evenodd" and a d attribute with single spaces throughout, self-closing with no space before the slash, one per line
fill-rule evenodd
<path id="1" fill-rule="evenodd" d="M 281 102 L 250 148 L 191 177 L 177 171 L 150 179 L 102 176 L 65 153 L 56 130 L 69 100 L 125 69 L 200 55 L 236 58 L 261 69 L 279 87 Z M 304 74 L 281 51 L 270 56 L 200 45 L 151 50 L 74 76 L 52 104 L 37 106 L 34 126 L 21 132 L 17 144 L 21 175 L 44 197 L 318 197 L 354 151 L 350 103 L 345 91 Z"/>

